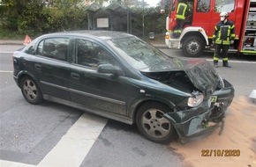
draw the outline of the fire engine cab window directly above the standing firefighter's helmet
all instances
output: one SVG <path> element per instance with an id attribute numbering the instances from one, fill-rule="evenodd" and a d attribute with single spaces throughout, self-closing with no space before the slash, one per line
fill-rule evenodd
<path id="1" fill-rule="evenodd" d="M 232 12 L 235 9 L 235 0 L 216 0 L 215 12 Z"/>

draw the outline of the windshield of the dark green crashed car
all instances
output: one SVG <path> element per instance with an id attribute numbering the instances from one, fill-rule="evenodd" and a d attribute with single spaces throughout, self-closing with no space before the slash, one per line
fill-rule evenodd
<path id="1" fill-rule="evenodd" d="M 111 39 L 108 43 L 135 69 L 147 69 L 169 60 L 166 54 L 136 37 Z"/>

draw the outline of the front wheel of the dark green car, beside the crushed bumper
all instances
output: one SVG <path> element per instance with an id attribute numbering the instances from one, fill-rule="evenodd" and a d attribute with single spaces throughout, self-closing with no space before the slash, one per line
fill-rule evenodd
<path id="1" fill-rule="evenodd" d="M 158 102 L 150 102 L 139 107 L 136 124 L 139 132 L 149 141 L 169 143 L 176 137 L 175 128 L 163 117 L 169 108 Z"/>

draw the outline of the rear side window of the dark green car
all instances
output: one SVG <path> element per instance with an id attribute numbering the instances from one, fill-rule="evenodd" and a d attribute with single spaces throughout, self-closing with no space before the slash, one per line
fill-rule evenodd
<path id="1" fill-rule="evenodd" d="M 36 54 L 50 57 L 60 61 L 67 60 L 69 40 L 65 38 L 52 38 L 41 40 Z"/>

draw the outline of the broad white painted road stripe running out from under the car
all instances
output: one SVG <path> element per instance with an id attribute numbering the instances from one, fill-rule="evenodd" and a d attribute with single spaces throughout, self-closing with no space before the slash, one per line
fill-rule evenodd
<path id="1" fill-rule="evenodd" d="M 108 119 L 84 113 L 37 165 L 0 160 L 2 167 L 79 167 Z"/>

